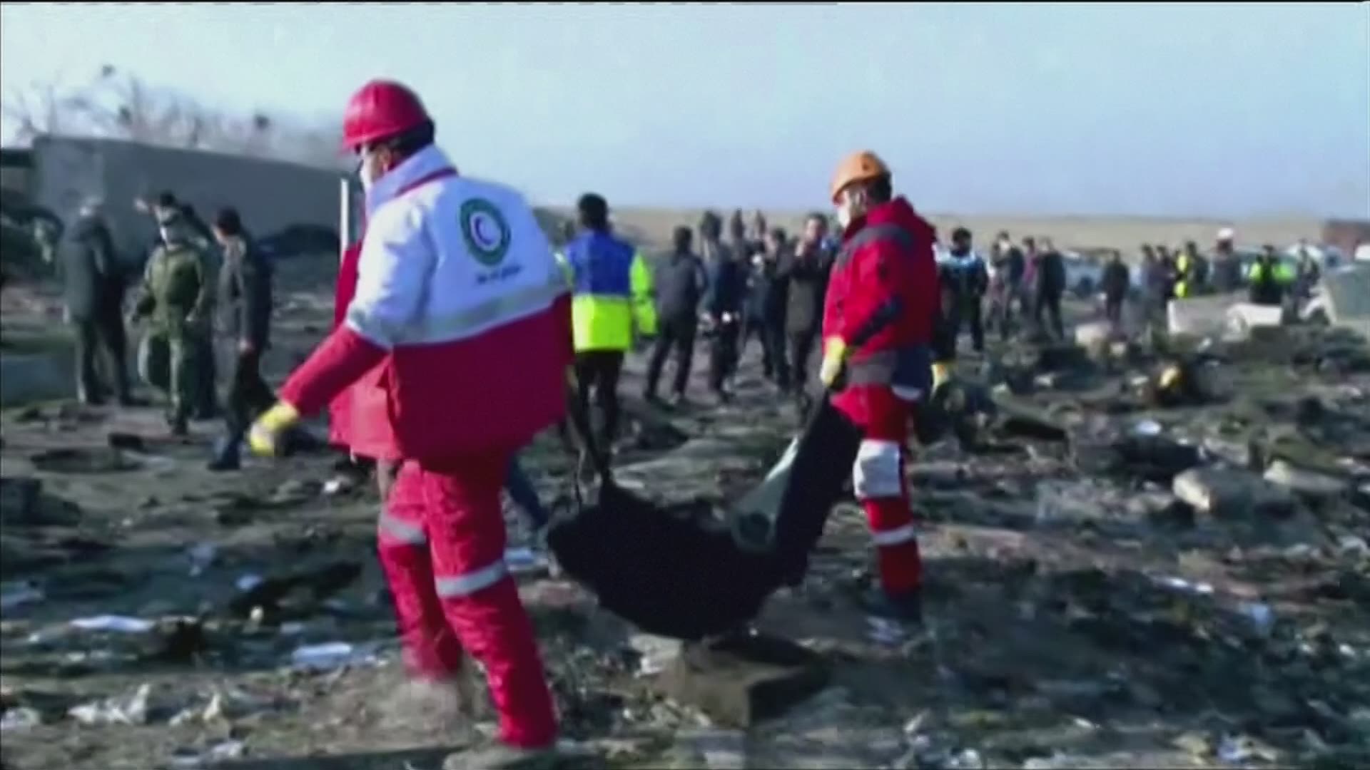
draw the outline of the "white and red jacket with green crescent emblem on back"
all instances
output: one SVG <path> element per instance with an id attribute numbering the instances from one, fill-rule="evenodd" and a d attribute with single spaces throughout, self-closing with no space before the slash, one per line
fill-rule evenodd
<path id="1" fill-rule="evenodd" d="M 301 415 L 377 369 L 338 410 L 358 454 L 379 418 L 367 396 L 389 433 L 373 451 L 393 449 L 374 456 L 426 462 L 515 449 L 563 417 L 570 295 L 516 190 L 459 177 L 429 147 L 369 190 L 356 267 L 342 323 L 281 388 Z"/>

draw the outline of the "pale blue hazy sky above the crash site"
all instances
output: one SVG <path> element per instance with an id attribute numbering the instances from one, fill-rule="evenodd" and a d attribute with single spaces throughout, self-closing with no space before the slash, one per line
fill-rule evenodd
<path id="1" fill-rule="evenodd" d="M 930 211 L 1370 216 L 1366 3 L 0 7 L 5 93 L 103 63 L 307 115 L 399 78 L 548 203 L 821 206 L 871 148 Z"/>

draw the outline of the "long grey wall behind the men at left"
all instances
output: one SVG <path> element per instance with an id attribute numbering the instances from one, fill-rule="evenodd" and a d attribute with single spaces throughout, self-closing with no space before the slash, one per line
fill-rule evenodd
<path id="1" fill-rule="evenodd" d="M 195 206 L 207 222 L 221 207 L 233 206 L 260 236 L 288 225 L 338 226 L 340 177 L 329 170 L 75 137 L 40 137 L 33 158 L 34 201 L 70 222 L 82 200 L 103 199 L 115 243 L 126 251 L 141 252 L 153 237 L 151 218 L 136 211 L 133 200 L 162 190 Z"/>

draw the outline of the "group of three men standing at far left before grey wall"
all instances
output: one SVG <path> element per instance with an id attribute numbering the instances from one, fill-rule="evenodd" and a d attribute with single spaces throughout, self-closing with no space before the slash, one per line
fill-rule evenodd
<path id="1" fill-rule="evenodd" d="M 274 400 L 260 374 L 270 338 L 270 260 L 253 248 L 233 208 L 219 211 L 211 226 L 171 192 L 136 206 L 153 219 L 158 236 L 141 280 L 133 281 L 137 295 L 127 316 L 126 262 L 115 251 L 101 201 L 82 204 L 58 248 L 66 316 L 75 330 L 77 396 L 92 406 L 110 396 L 136 404 L 126 325 L 142 325 L 138 374 L 166 393 L 171 433 L 186 436 L 192 419 L 222 414 L 225 434 L 210 467 L 237 469 L 251 418 Z M 219 358 L 232 362 L 223 408 Z"/>

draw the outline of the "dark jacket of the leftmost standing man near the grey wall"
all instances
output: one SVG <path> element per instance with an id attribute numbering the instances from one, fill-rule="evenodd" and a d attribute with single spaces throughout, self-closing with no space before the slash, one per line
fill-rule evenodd
<path id="1" fill-rule="evenodd" d="M 121 319 L 123 273 L 104 222 L 89 216 L 77 221 L 63 238 L 59 253 L 63 293 L 71 318 Z"/>

